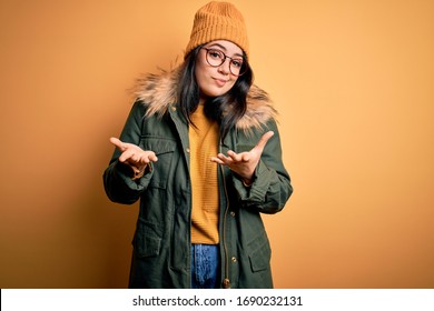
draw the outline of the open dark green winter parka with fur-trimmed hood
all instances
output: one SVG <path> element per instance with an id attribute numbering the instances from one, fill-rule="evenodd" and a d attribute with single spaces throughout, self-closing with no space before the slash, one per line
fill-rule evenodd
<path id="1" fill-rule="evenodd" d="M 120 136 L 121 141 L 154 151 L 158 161 L 134 181 L 116 150 L 103 173 L 111 201 L 131 204 L 140 200 L 130 288 L 190 288 L 189 139 L 188 123 L 176 102 L 178 80 L 178 70 L 147 77 Z M 260 213 L 279 212 L 293 192 L 275 114 L 267 94 L 253 86 L 246 114 L 219 144 L 224 154 L 248 151 L 266 131 L 275 132 L 250 187 L 219 165 L 221 288 L 273 288 L 272 250 Z"/>

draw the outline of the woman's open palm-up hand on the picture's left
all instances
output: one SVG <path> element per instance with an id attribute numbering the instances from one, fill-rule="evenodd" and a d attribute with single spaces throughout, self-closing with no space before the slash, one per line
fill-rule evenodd
<path id="1" fill-rule="evenodd" d="M 134 143 L 122 142 L 114 137 L 110 138 L 110 142 L 122 152 L 118 160 L 132 169 L 135 173 L 134 179 L 142 177 L 150 162 L 158 161 L 154 151 L 142 150 Z"/>

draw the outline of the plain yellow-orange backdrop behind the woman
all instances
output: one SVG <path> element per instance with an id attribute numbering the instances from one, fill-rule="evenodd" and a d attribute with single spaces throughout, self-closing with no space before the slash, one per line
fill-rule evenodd
<path id="1" fill-rule="evenodd" d="M 127 287 L 108 138 L 206 2 L 0 1 L 1 288 Z M 434 2 L 233 2 L 295 189 L 265 217 L 276 288 L 433 288 Z"/>

